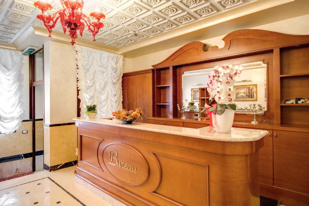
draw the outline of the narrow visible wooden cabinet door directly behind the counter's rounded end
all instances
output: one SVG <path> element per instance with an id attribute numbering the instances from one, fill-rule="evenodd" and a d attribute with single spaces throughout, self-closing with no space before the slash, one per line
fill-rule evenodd
<path id="1" fill-rule="evenodd" d="M 273 186 L 273 130 L 267 130 L 264 146 L 260 149 L 260 183 Z"/>

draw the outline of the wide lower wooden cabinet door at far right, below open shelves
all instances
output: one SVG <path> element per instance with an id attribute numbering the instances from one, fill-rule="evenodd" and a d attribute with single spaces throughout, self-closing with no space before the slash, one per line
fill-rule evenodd
<path id="1" fill-rule="evenodd" d="M 273 134 L 274 186 L 309 194 L 309 133 Z"/>

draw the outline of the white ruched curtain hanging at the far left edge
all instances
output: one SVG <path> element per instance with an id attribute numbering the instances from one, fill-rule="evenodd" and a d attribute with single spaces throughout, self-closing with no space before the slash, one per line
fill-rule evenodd
<path id="1" fill-rule="evenodd" d="M 0 48 L 0 132 L 17 130 L 23 118 L 23 55 Z"/>

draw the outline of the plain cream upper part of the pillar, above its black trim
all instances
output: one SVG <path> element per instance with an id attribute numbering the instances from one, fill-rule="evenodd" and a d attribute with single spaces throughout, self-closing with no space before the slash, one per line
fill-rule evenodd
<path id="1" fill-rule="evenodd" d="M 73 122 L 77 116 L 76 60 L 72 45 L 44 44 L 44 94 L 46 124 Z"/>

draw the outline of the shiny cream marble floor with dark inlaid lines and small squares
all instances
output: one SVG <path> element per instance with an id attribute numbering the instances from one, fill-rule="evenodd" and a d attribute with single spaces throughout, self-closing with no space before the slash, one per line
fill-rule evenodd
<path id="1" fill-rule="evenodd" d="M 0 183 L 0 205 L 111 206 L 74 181 L 75 166 Z M 279 205 L 283 206 L 283 205 Z"/>

